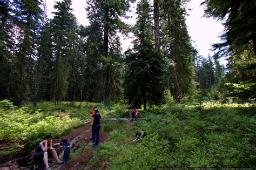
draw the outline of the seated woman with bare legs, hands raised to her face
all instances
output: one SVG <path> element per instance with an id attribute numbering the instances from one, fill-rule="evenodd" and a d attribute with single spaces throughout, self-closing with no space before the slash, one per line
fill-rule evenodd
<path id="1" fill-rule="evenodd" d="M 60 161 L 57 155 L 57 152 L 55 151 L 55 148 L 52 147 L 52 136 L 51 134 L 46 135 L 44 137 L 44 140 L 41 141 L 35 151 L 34 159 L 43 159 L 45 169 L 51 169 L 48 164 L 48 158 L 51 158 L 51 155 L 53 155 L 53 158 L 56 160 L 57 165 L 62 164 L 63 161 Z"/>

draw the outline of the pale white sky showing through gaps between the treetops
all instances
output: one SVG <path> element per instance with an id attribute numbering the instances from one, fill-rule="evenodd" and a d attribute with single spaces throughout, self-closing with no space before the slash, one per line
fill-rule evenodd
<path id="1" fill-rule="evenodd" d="M 224 30 L 224 26 L 221 25 L 221 22 L 216 21 L 213 18 L 205 18 L 204 15 L 204 6 L 200 6 L 202 0 L 193 0 L 187 3 L 186 9 L 189 16 L 186 17 L 187 30 L 191 39 L 193 40 L 193 45 L 199 50 L 199 54 L 203 57 L 208 57 L 208 54 L 213 55 L 213 52 L 210 50 L 211 44 L 219 43 L 221 32 Z M 153 1 L 150 1 L 153 4 Z M 53 18 L 53 5 L 55 1 L 46 0 L 47 5 L 47 15 L 48 18 Z M 73 9 L 73 14 L 76 16 L 77 21 L 82 25 L 89 25 L 89 21 L 86 18 L 87 13 L 85 10 L 86 1 L 84 0 L 73 0 L 71 8 Z M 129 19 L 124 19 L 127 23 L 134 25 L 136 23 L 134 15 L 136 11 L 136 3 L 131 4 L 131 12 L 128 12 L 129 16 L 133 16 Z M 191 9 L 191 10 L 188 10 Z M 132 34 L 131 34 L 132 37 Z M 122 47 L 123 51 L 132 46 L 132 38 L 122 38 Z M 220 59 L 220 63 L 226 65 L 227 61 L 225 58 Z"/>

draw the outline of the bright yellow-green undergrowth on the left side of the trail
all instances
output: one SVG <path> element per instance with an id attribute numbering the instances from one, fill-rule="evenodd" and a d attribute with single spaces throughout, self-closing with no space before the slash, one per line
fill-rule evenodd
<path id="1" fill-rule="evenodd" d="M 0 142 L 19 142 L 25 147 L 36 145 L 47 134 L 53 138 L 70 133 L 73 128 L 82 125 L 81 120 L 91 118 L 92 106 L 98 106 L 102 117 L 122 117 L 128 114 L 127 105 L 83 102 L 50 101 L 14 106 L 9 100 L 0 101 Z M 107 128 L 107 126 L 106 126 Z M 11 153 L 6 150 L 6 153 Z"/>

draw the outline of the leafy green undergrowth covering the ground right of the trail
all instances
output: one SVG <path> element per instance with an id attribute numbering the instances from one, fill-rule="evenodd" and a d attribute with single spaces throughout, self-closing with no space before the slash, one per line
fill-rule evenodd
<path id="1" fill-rule="evenodd" d="M 109 140 L 99 145 L 91 167 L 254 167 L 255 104 L 179 104 L 155 106 L 145 119 L 126 128 L 106 123 Z M 255 113 L 255 112 L 254 112 Z M 134 143 L 133 133 L 147 135 Z M 103 161 L 99 161 L 103 160 Z"/>

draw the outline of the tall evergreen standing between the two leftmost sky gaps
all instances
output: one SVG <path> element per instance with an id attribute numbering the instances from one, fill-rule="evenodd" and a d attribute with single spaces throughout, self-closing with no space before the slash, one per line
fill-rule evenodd
<path id="1" fill-rule="evenodd" d="M 76 18 L 71 13 L 71 0 L 57 2 L 53 12 L 55 17 L 52 19 L 52 41 L 53 56 L 56 61 L 55 69 L 55 105 L 58 100 L 65 97 L 71 70 L 71 62 L 73 60 L 72 43 L 76 39 Z M 65 71 L 64 71 L 65 70 Z"/>

